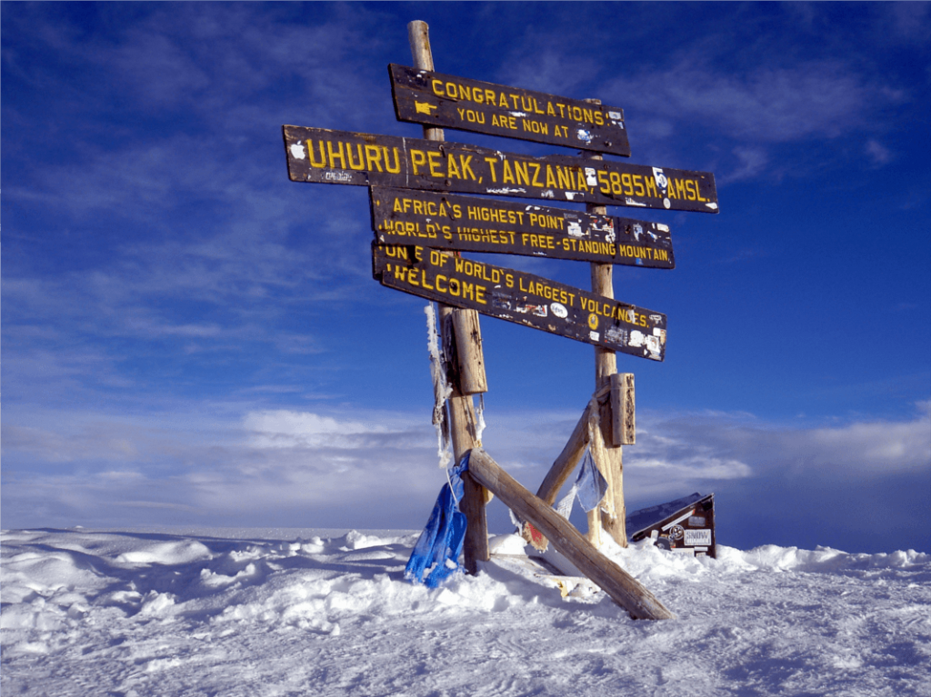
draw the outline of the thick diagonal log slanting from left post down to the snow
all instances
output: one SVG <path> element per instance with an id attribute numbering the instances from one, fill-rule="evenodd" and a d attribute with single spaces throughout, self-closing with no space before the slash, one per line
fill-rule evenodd
<path id="1" fill-rule="evenodd" d="M 656 597 L 627 571 L 602 555 L 569 521 L 547 503 L 520 486 L 482 449 L 469 454 L 468 470 L 483 487 L 501 499 L 518 516 L 543 532 L 560 553 L 589 579 L 598 583 L 608 596 L 627 610 L 635 620 L 675 619 Z"/>

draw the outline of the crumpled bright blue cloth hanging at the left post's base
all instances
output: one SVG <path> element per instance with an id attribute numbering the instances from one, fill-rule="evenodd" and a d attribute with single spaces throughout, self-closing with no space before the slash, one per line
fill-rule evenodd
<path id="1" fill-rule="evenodd" d="M 471 451 L 469 451 L 471 452 Z M 463 498 L 462 475 L 468 469 L 469 453 L 448 473 L 449 483 L 439 490 L 437 503 L 423 532 L 413 545 L 404 578 L 436 588 L 452 574 L 462 571 L 459 555 L 466 539 L 466 514 L 459 510 Z"/>

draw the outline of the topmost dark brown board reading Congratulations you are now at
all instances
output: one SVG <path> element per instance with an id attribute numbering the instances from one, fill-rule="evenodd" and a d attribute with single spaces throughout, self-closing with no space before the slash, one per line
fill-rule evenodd
<path id="1" fill-rule="evenodd" d="M 398 121 L 629 156 L 616 106 L 388 65 Z"/>

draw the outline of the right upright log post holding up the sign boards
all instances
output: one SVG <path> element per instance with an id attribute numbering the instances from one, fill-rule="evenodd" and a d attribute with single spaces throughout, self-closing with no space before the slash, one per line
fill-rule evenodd
<path id="1" fill-rule="evenodd" d="M 600 100 L 586 100 L 592 104 L 600 104 Z M 588 155 L 590 159 L 600 160 L 600 154 Z M 586 211 L 593 215 L 607 215 L 608 209 L 604 206 L 586 204 Z M 603 295 L 605 298 L 614 298 L 614 266 L 610 263 L 592 263 L 591 290 L 593 293 Z M 611 376 L 617 372 L 617 356 L 611 349 L 595 346 L 595 389 L 599 390 L 611 381 Z M 614 538 L 614 542 L 622 547 L 627 546 L 627 515 L 624 505 L 624 463 L 620 447 L 614 446 L 612 433 L 611 402 L 601 408 L 600 430 L 604 443 L 602 456 L 606 462 L 596 462 L 600 465 L 601 474 L 608 481 L 608 491 L 605 494 L 605 503 L 609 510 L 614 511 L 614 517 L 601 516 L 596 508 L 588 512 L 588 541 L 597 545 L 600 540 L 600 528 L 604 527 Z"/>

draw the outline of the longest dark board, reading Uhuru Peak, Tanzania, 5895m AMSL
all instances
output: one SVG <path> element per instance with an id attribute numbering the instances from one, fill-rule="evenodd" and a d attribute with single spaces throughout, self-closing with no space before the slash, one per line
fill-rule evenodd
<path id="1" fill-rule="evenodd" d="M 718 212 L 714 175 L 456 142 L 283 127 L 291 181 Z"/>

